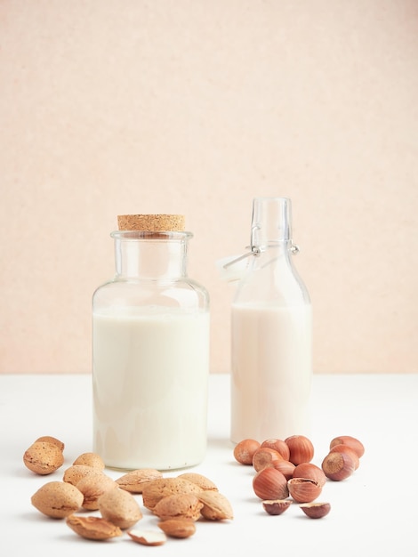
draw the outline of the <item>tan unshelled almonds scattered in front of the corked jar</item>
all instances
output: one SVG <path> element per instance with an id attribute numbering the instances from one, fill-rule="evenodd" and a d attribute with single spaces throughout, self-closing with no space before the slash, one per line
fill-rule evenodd
<path id="1" fill-rule="evenodd" d="M 29 470 L 46 475 L 64 464 L 64 443 L 51 436 L 38 438 L 24 453 Z M 142 545 L 162 545 L 167 537 L 185 538 L 196 532 L 196 522 L 233 519 L 232 507 L 212 480 L 184 472 L 165 478 L 155 469 L 127 472 L 113 480 L 104 472 L 99 455 L 84 453 L 68 466 L 62 480 L 46 482 L 31 497 L 40 512 L 65 519 L 81 537 L 104 540 L 124 531 Z M 142 505 L 156 515 L 158 529 L 133 529 L 143 517 Z M 98 511 L 100 516 L 88 512 Z"/>

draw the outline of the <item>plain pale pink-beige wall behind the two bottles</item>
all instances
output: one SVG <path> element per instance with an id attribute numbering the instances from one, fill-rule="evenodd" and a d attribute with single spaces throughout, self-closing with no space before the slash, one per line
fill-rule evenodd
<path id="1" fill-rule="evenodd" d="M 0 2 L 0 372 L 88 373 L 117 214 L 181 213 L 229 371 L 253 197 L 293 200 L 316 372 L 418 372 L 418 3 Z"/>

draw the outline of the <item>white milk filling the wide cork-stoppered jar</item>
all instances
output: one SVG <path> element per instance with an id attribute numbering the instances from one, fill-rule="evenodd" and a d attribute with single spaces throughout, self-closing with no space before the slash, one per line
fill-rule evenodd
<path id="1" fill-rule="evenodd" d="M 198 464 L 206 448 L 209 313 L 122 311 L 92 317 L 93 450 L 114 468 Z"/>

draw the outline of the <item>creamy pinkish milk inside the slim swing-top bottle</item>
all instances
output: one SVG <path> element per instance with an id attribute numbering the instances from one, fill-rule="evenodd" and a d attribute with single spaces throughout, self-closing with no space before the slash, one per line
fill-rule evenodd
<path id="1" fill-rule="evenodd" d="M 310 305 L 234 304 L 231 440 L 309 436 Z"/>

